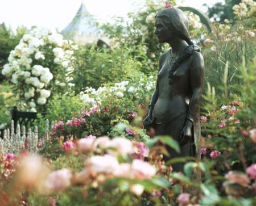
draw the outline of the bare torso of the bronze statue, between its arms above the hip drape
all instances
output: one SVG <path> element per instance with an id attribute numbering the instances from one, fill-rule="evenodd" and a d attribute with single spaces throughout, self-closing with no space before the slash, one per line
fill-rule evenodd
<path id="1" fill-rule="evenodd" d="M 192 91 L 189 78 L 189 58 L 174 72 L 173 84 L 169 84 L 168 71 L 173 59 L 167 52 L 166 57 L 160 62 L 158 73 L 158 100 L 154 107 L 154 116 L 163 117 L 169 113 L 187 108 Z"/>

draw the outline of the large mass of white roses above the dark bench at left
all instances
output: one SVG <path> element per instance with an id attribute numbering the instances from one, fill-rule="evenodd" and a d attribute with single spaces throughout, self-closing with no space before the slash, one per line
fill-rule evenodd
<path id="1" fill-rule="evenodd" d="M 10 52 L 9 63 L 3 66 L 2 74 L 11 78 L 20 98 L 31 111 L 36 111 L 36 105 L 46 104 L 51 96 L 51 85 L 63 83 L 53 78 L 55 68 L 61 68 L 64 75 L 65 70 L 72 70 L 70 62 L 74 49 L 77 45 L 64 40 L 56 31 L 35 28 Z M 55 82 L 50 84 L 51 81 Z"/>

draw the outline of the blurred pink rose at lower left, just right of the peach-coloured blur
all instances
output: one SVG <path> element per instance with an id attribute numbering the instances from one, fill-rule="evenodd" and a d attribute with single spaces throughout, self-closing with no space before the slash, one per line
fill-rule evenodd
<path id="1" fill-rule="evenodd" d="M 46 180 L 46 188 L 52 192 L 61 192 L 71 185 L 71 177 L 68 169 L 53 171 Z"/>

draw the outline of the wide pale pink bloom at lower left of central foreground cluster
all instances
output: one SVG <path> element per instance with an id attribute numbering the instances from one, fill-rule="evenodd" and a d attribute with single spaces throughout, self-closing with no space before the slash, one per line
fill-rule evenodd
<path id="1" fill-rule="evenodd" d="M 114 173 L 118 169 L 118 161 L 112 155 L 93 156 L 85 161 L 85 167 L 89 167 L 90 171 L 95 173 Z"/>

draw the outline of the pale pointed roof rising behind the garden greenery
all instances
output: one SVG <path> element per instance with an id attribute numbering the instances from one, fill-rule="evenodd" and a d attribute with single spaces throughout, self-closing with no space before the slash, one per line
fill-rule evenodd
<path id="1" fill-rule="evenodd" d="M 99 36 L 100 30 L 96 27 L 92 15 L 89 14 L 86 9 L 84 1 L 82 1 L 76 16 L 73 18 L 72 22 L 68 24 L 64 30 L 61 31 L 62 35 L 71 39 L 73 36 Z"/>

